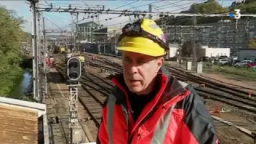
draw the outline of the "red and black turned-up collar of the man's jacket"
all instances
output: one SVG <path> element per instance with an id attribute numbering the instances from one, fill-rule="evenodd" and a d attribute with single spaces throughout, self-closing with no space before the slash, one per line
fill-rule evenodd
<path id="1" fill-rule="evenodd" d="M 164 86 L 164 83 L 165 83 L 164 81 L 167 81 L 165 90 L 163 90 L 162 94 L 158 95 L 158 96 L 160 96 L 158 105 L 166 103 L 166 102 L 170 101 L 170 99 L 174 98 L 175 96 L 185 92 L 185 89 L 182 87 L 181 83 L 178 82 L 178 80 L 170 74 L 169 70 L 166 69 L 166 66 L 161 67 L 157 76 L 161 77 L 160 78 L 162 81 L 162 82 L 160 82 L 161 87 Z M 123 79 L 123 74 L 118 74 L 117 76 L 115 76 L 112 79 L 112 81 L 116 85 L 122 86 L 122 90 L 127 90 L 126 83 Z"/>

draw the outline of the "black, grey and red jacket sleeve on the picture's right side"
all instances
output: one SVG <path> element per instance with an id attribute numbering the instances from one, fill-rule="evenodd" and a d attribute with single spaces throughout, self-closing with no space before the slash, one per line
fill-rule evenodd
<path id="1" fill-rule="evenodd" d="M 192 86 L 188 86 L 190 96 L 184 103 L 184 120 L 182 123 L 182 144 L 217 144 L 218 138 L 214 121 L 202 102 L 202 98 Z"/>

